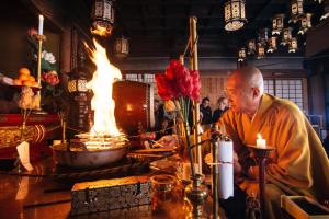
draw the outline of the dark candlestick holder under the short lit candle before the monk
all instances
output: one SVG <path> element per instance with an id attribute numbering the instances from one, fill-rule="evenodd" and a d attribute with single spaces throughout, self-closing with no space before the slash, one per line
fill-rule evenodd
<path id="1" fill-rule="evenodd" d="M 270 152 L 275 148 L 266 146 L 265 148 L 259 148 L 257 146 L 248 146 L 248 149 L 253 158 L 256 158 L 259 166 L 259 199 L 260 199 L 260 210 L 261 218 L 265 219 L 265 196 L 264 196 L 264 185 L 265 185 L 265 166 L 266 160 Z"/>

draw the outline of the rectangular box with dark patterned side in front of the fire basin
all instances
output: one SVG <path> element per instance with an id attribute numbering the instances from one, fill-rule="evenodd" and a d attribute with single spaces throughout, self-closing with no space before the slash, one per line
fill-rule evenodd
<path id="1" fill-rule="evenodd" d="M 146 176 L 77 183 L 71 197 L 71 215 L 132 208 L 151 204 L 151 183 Z"/>

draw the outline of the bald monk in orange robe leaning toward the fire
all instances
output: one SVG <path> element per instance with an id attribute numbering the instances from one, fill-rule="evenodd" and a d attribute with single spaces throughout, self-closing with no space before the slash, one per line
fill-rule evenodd
<path id="1" fill-rule="evenodd" d="M 291 101 L 264 93 L 262 73 L 252 66 L 234 71 L 226 89 L 231 107 L 218 125 L 225 125 L 234 141 L 239 188 L 247 195 L 258 193 L 258 166 L 247 146 L 256 146 L 260 134 L 268 146 L 275 148 L 265 171 L 266 218 L 281 218 L 282 194 L 328 200 L 329 161 L 303 112 Z"/>

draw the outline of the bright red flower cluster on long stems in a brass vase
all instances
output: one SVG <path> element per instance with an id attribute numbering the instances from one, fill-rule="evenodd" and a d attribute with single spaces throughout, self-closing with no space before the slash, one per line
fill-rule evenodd
<path id="1" fill-rule="evenodd" d="M 198 71 L 191 71 L 178 60 L 172 60 L 166 72 L 157 73 L 155 79 L 160 97 L 164 101 L 172 100 L 184 123 L 192 175 L 194 177 L 195 170 L 191 151 L 189 114 L 191 101 L 200 101 L 201 83 Z"/>

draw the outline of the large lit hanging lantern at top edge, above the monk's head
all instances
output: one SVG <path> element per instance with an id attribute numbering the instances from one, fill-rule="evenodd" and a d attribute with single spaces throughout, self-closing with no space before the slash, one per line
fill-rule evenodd
<path id="1" fill-rule="evenodd" d="M 246 19 L 245 0 L 229 0 L 225 3 L 225 30 L 237 31 L 242 28 Z"/>

